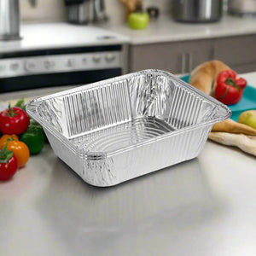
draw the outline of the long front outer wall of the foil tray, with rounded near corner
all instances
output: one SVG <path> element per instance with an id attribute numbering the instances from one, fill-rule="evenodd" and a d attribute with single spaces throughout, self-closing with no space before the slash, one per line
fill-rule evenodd
<path id="1" fill-rule="evenodd" d="M 83 178 L 96 186 L 111 186 L 195 158 L 212 125 L 166 140 L 113 155 L 104 160 L 84 160 Z"/>

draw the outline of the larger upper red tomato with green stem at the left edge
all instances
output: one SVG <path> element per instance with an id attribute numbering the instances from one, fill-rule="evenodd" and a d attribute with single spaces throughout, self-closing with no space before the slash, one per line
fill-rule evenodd
<path id="1" fill-rule="evenodd" d="M 4 134 L 19 135 L 26 131 L 29 117 L 21 108 L 9 108 L 0 113 L 0 130 Z"/>

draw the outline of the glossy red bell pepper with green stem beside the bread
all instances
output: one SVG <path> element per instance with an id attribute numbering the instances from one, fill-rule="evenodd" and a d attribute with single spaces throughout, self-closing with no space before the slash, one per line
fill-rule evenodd
<path id="1" fill-rule="evenodd" d="M 241 100 L 246 86 L 247 80 L 236 78 L 235 71 L 224 70 L 218 74 L 215 97 L 226 105 L 236 104 Z"/>

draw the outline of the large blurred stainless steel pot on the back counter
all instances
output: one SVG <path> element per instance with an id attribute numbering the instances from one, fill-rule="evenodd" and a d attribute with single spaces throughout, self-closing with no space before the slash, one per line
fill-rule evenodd
<path id="1" fill-rule="evenodd" d="M 173 0 L 172 15 L 177 21 L 214 22 L 222 13 L 222 0 Z"/>

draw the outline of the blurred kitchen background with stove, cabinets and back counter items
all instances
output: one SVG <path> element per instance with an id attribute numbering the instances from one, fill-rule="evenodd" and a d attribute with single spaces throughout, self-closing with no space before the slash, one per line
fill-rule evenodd
<path id="1" fill-rule="evenodd" d="M 0 0 L 0 91 L 188 74 L 212 59 L 254 72 L 255 14 L 255 0 Z"/>

